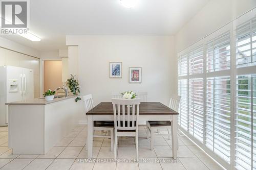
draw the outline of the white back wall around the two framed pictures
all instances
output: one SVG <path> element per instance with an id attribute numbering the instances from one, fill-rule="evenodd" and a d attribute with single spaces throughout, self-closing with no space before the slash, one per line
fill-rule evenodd
<path id="1" fill-rule="evenodd" d="M 174 37 L 172 36 L 67 36 L 78 45 L 82 94 L 94 103 L 111 101 L 112 91 L 148 91 L 148 101 L 168 104 L 175 91 Z M 121 61 L 121 79 L 109 78 L 109 62 Z M 142 83 L 129 83 L 129 67 L 142 67 Z"/>

